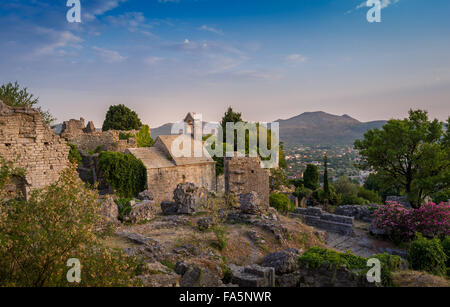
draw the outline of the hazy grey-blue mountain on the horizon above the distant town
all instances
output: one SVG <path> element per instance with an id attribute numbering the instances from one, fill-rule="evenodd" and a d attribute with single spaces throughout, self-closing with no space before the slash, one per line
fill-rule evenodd
<path id="1" fill-rule="evenodd" d="M 280 138 L 289 145 L 347 145 L 386 121 L 360 122 L 348 115 L 308 112 L 278 120 Z"/>

